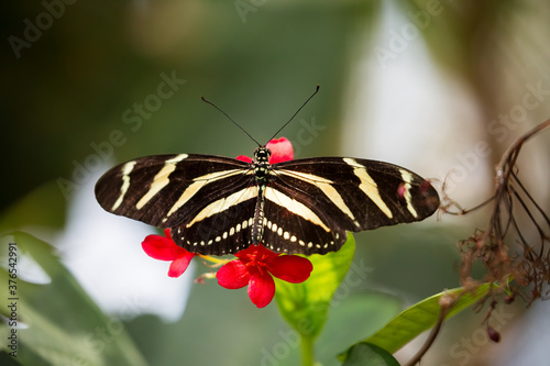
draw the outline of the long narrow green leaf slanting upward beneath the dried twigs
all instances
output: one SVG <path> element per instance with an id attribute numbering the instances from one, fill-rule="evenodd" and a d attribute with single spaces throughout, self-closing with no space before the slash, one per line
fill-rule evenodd
<path id="1" fill-rule="evenodd" d="M 449 319 L 487 295 L 490 288 L 491 284 L 481 285 L 473 291 L 465 291 L 463 287 L 460 287 L 429 297 L 403 311 L 383 329 L 363 340 L 363 342 L 377 345 L 389 353 L 394 353 L 437 323 L 441 311 L 439 300 L 442 296 L 451 296 L 458 299 L 446 317 L 446 319 Z M 348 352 L 341 356 L 345 357 L 345 354 Z"/>

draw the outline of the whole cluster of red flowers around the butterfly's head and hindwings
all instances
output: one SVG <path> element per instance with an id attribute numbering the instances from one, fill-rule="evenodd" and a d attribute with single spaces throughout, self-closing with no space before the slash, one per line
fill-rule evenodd
<path id="1" fill-rule="evenodd" d="M 270 164 L 290 160 L 294 157 L 293 145 L 285 138 L 272 140 L 266 145 L 271 149 Z M 237 157 L 243 162 L 252 162 L 248 156 Z M 170 260 L 169 277 L 179 277 L 198 254 L 190 253 L 178 246 L 170 237 L 169 229 L 165 236 L 148 235 L 142 243 L 145 253 L 160 260 Z M 206 259 L 210 257 L 201 256 Z M 282 255 L 265 248 L 263 245 L 251 245 L 235 254 L 235 259 L 227 260 L 217 271 L 218 284 L 228 289 L 249 286 L 249 297 L 252 302 L 263 308 L 275 296 L 275 280 L 299 284 L 309 278 L 314 266 L 309 259 L 298 255 Z M 212 262 L 219 262 L 213 259 Z"/>

